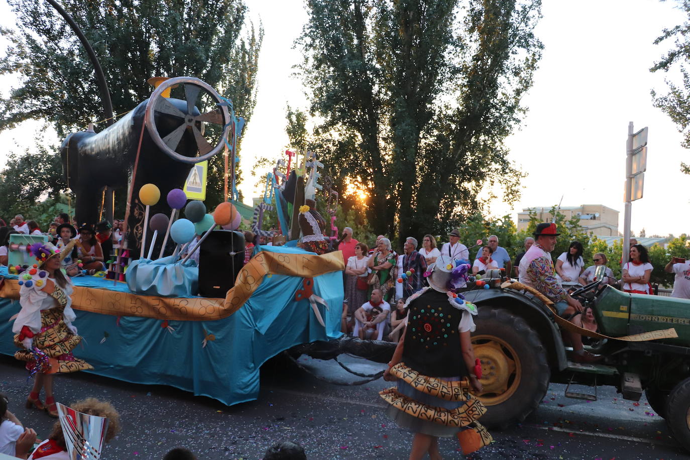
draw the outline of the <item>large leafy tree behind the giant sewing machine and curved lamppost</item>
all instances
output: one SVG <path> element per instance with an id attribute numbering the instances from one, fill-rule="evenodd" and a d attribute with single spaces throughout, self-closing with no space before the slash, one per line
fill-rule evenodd
<path id="1" fill-rule="evenodd" d="M 102 119 L 93 68 L 72 30 L 48 3 L 8 0 L 16 30 L 0 74 L 19 74 L 21 85 L 0 100 L 0 130 L 26 119 L 46 119 L 64 137 Z M 92 44 L 106 75 L 112 105 L 122 114 L 150 96 L 155 76 L 198 77 L 233 101 L 249 121 L 263 29 L 245 23 L 244 0 L 65 0 Z M 96 129 L 105 128 L 97 123 Z M 239 174 L 238 174 L 239 177 Z M 207 194 L 221 201 L 223 159 L 210 161 Z M 124 194 L 121 194 L 124 196 Z"/>

